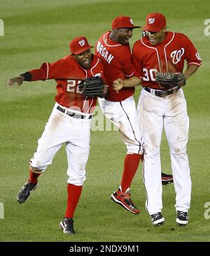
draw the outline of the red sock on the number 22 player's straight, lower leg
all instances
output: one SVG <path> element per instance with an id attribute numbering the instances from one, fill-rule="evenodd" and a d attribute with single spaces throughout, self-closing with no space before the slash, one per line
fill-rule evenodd
<path id="1" fill-rule="evenodd" d="M 82 188 L 83 188 L 83 186 L 76 186 L 73 184 L 67 185 L 68 198 L 67 198 L 65 218 L 73 218 L 73 213 L 76 209 L 76 205 L 80 198 Z"/>

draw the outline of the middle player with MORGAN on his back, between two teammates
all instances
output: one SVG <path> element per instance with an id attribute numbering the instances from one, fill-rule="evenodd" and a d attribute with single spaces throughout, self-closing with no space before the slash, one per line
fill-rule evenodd
<path id="1" fill-rule="evenodd" d="M 139 214 L 140 210 L 132 203 L 130 186 L 144 154 L 133 98 L 134 87 L 123 88 L 117 93 L 111 86 L 118 78 L 131 77 L 132 82 L 137 84 L 141 81 L 134 76 L 129 45 L 132 30 L 138 27 L 140 26 L 135 26 L 132 18 L 120 15 L 113 20 L 111 32 L 102 34 L 95 46 L 95 54 L 102 60 L 104 77 L 109 85 L 109 93 L 106 98 L 99 98 L 99 105 L 104 115 L 116 124 L 127 146 L 122 181 L 118 190 L 111 195 L 111 199 L 133 214 Z M 173 181 L 172 175 L 163 174 L 162 177 L 163 182 Z"/>

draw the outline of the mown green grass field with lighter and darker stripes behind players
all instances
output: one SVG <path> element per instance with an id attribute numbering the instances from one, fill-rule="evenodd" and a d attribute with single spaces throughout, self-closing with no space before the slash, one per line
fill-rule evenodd
<path id="1" fill-rule="evenodd" d="M 1 0 L 0 19 L 0 241 L 210 241 L 210 219 L 204 218 L 204 203 L 210 202 L 210 37 L 204 35 L 204 20 L 210 19 L 208 0 Z M 132 184 L 132 200 L 141 208 L 132 215 L 111 202 L 123 172 L 126 148 L 118 132 L 92 132 L 87 180 L 78 203 L 76 234 L 64 235 L 58 228 L 66 207 L 66 152 L 62 147 L 39 179 L 39 186 L 27 203 L 16 196 L 28 178 L 28 162 L 54 105 L 55 82 L 33 82 L 9 89 L 7 79 L 41 63 L 69 54 L 69 41 L 85 35 L 94 44 L 111 28 L 117 15 L 130 15 L 134 24 L 144 25 L 147 13 L 166 15 L 168 29 L 183 32 L 202 56 L 202 66 L 184 88 L 190 115 L 188 155 L 193 179 L 190 222 L 175 224 L 174 186 L 163 187 L 162 213 L 166 224 L 151 225 L 145 210 L 146 193 L 141 165 Z M 134 30 L 131 46 L 141 30 Z M 137 89 L 135 99 L 139 96 Z M 169 148 L 162 138 L 162 169 L 172 173 Z M 1 216 L 1 215 L 0 215 Z M 210 216 L 209 216 L 210 217 Z"/>

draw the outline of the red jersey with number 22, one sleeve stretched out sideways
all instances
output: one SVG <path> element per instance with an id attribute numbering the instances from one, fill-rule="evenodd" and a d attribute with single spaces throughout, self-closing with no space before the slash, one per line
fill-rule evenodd
<path id="1" fill-rule="evenodd" d="M 55 101 L 66 108 L 92 113 L 97 104 L 97 97 L 83 96 L 78 84 L 81 79 L 101 76 L 104 79 L 102 61 L 92 55 L 92 63 L 87 70 L 81 67 L 71 55 L 68 55 L 55 63 L 43 63 L 40 69 L 30 70 L 31 81 L 55 79 L 57 82 L 57 95 Z"/>

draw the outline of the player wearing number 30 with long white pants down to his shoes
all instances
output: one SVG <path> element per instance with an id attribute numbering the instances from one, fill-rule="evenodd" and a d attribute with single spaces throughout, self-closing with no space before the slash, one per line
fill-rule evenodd
<path id="1" fill-rule="evenodd" d="M 191 179 L 187 143 L 189 118 L 183 89 L 176 86 L 164 89 L 155 79 L 156 72 L 183 72 L 188 79 L 201 65 L 201 58 L 186 35 L 167 31 L 166 18 L 161 13 L 150 13 L 143 28 L 146 36 L 138 40 L 132 50 L 134 67 L 142 79 L 141 96 L 137 115 L 144 143 L 144 181 L 146 209 L 154 226 L 165 223 L 162 217 L 162 186 L 160 143 L 162 128 L 169 143 L 169 150 L 176 191 L 176 224 L 188 224 Z M 167 75 L 167 74 L 166 74 Z M 158 78 L 157 78 L 158 79 Z M 126 81 L 116 81 L 113 88 L 130 87 Z M 144 122 L 142 120 L 144 119 Z"/>

